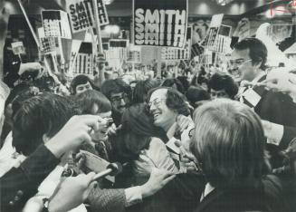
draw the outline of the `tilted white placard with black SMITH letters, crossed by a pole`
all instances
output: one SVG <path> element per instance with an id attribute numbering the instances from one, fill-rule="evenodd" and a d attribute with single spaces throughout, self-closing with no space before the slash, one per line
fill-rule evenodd
<path id="1" fill-rule="evenodd" d="M 109 24 L 106 6 L 102 0 L 97 0 L 100 25 Z M 70 17 L 72 33 L 85 31 L 95 27 L 95 17 L 92 0 L 67 0 L 66 11 Z"/>

